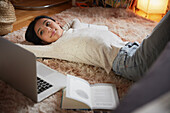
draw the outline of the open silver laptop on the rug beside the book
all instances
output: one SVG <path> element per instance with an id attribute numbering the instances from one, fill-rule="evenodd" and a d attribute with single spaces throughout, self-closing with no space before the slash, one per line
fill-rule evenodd
<path id="1" fill-rule="evenodd" d="M 36 61 L 28 50 L 0 37 L 0 79 L 35 102 L 66 86 L 66 76 Z"/>

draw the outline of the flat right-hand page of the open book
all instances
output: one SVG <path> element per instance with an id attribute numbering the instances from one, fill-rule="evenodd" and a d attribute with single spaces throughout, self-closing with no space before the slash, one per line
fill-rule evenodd
<path id="1" fill-rule="evenodd" d="M 93 109 L 114 109 L 118 105 L 116 87 L 112 84 L 95 84 L 91 87 Z"/>

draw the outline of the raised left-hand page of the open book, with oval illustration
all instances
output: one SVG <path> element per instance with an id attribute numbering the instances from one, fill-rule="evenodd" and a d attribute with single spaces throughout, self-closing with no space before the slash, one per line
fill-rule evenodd
<path id="1" fill-rule="evenodd" d="M 78 100 L 91 107 L 90 85 L 81 78 L 67 75 L 66 97 Z"/>

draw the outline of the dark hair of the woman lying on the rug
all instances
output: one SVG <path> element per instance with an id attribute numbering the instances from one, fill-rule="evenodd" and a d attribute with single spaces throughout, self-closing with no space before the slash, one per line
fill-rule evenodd
<path id="1" fill-rule="evenodd" d="M 41 15 L 41 16 L 37 16 L 28 26 L 26 33 L 25 33 L 25 39 L 29 42 L 32 42 L 36 45 L 43 45 L 42 40 L 36 35 L 34 27 L 36 22 L 41 19 L 41 18 L 48 18 L 51 19 L 55 22 L 55 20 L 51 17 L 45 16 L 45 15 Z"/>

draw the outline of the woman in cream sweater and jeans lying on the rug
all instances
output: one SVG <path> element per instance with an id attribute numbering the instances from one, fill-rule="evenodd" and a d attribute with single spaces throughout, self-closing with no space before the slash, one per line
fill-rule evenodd
<path id="1" fill-rule="evenodd" d="M 59 22 L 38 16 L 25 38 L 35 45 L 21 45 L 37 57 L 58 58 L 102 67 L 125 78 L 138 80 L 170 40 L 170 11 L 141 44 L 123 42 L 106 26 L 81 23 L 78 19 L 61 27 Z M 20 45 L 20 44 L 19 44 Z"/>

